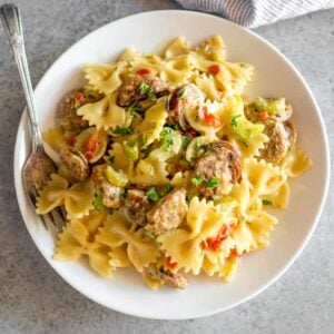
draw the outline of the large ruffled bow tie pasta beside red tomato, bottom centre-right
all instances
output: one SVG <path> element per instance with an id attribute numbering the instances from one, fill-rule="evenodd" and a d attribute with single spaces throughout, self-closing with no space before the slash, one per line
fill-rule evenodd
<path id="1" fill-rule="evenodd" d="M 166 232 L 157 240 L 166 256 L 170 256 L 186 273 L 193 272 L 194 275 L 198 275 L 206 256 L 206 245 L 214 244 L 217 238 L 219 245 L 215 248 L 216 256 L 222 256 L 218 248 L 223 254 L 229 253 L 234 245 L 230 240 L 226 242 L 228 236 L 222 240 L 217 236 L 227 225 L 236 224 L 237 218 L 233 213 L 220 212 L 212 202 L 206 203 L 205 199 L 193 197 L 186 222 L 185 228 Z M 212 254 L 208 252 L 209 255 Z"/>

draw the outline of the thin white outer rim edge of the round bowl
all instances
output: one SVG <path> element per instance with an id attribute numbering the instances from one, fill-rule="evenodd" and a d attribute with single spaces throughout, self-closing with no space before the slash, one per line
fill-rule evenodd
<path id="1" fill-rule="evenodd" d="M 271 48 L 273 51 L 275 51 L 276 53 L 278 53 L 278 56 L 281 56 L 287 63 L 288 66 L 291 67 L 291 69 L 294 71 L 294 73 L 297 76 L 297 78 L 301 80 L 301 82 L 303 84 L 304 88 L 306 89 L 307 94 L 310 95 L 311 99 L 312 99 L 312 102 L 316 109 L 316 112 L 317 112 L 317 116 L 320 118 L 320 121 L 321 121 L 321 127 L 322 127 L 322 135 L 323 135 L 323 138 L 324 138 L 324 141 L 325 141 L 325 157 L 326 157 L 326 171 L 325 171 L 325 179 L 326 179 L 326 184 L 325 184 L 325 187 L 323 189 L 323 197 L 322 197 L 322 202 L 321 202 L 321 205 L 318 206 L 318 209 L 317 209 L 317 213 L 316 213 L 316 216 L 315 216 L 315 219 L 312 224 L 312 227 L 310 228 L 305 239 L 303 240 L 303 243 L 301 244 L 301 246 L 298 247 L 298 249 L 295 252 L 295 254 L 291 257 L 291 259 L 282 267 L 282 269 L 278 271 L 278 273 L 269 281 L 267 282 L 264 286 L 262 286 L 261 288 L 256 289 L 254 293 L 252 293 L 250 295 L 248 295 L 247 297 L 245 298 L 242 298 L 240 301 L 227 306 L 227 307 L 222 307 L 222 308 L 217 308 L 215 311 L 208 311 L 208 312 L 204 312 L 204 313 L 200 313 L 199 315 L 195 315 L 195 316 L 187 316 L 185 314 L 180 315 L 180 316 L 174 316 L 174 317 L 163 317 L 163 316 L 159 316 L 159 317 L 156 317 L 156 316 L 148 316 L 146 314 L 141 314 L 140 312 L 138 313 L 134 313 L 134 312 L 128 312 L 127 310 L 124 310 L 122 307 L 112 307 L 114 311 L 117 311 L 117 312 L 120 312 L 120 313 L 124 313 L 124 314 L 128 314 L 128 315 L 131 315 L 131 316 L 137 316 L 137 317 L 143 317 L 143 318 L 151 318 L 151 320 L 169 320 L 169 321 L 176 321 L 176 320 L 191 320 L 191 318 L 199 318 L 199 317 L 205 317 L 205 316 L 209 316 L 209 315 L 215 315 L 215 314 L 218 314 L 220 312 L 224 312 L 224 311 L 227 311 L 227 310 L 230 310 L 237 305 L 240 305 L 249 299 L 252 299 L 253 297 L 255 297 L 256 295 L 258 295 L 259 293 L 262 293 L 263 291 L 265 291 L 268 286 L 271 286 L 272 284 L 274 284 L 291 266 L 292 264 L 296 261 L 296 258 L 301 255 L 301 253 L 303 252 L 303 249 L 305 248 L 306 244 L 308 243 L 312 234 L 314 233 L 317 224 L 318 224 L 318 220 L 320 220 L 320 217 L 322 215 L 322 212 L 323 212 L 323 208 L 324 208 L 324 205 L 325 205 L 325 202 L 326 202 L 326 198 L 327 198 L 327 194 L 328 194 L 328 187 L 330 187 L 330 170 L 331 170 L 331 166 L 330 166 L 330 146 L 328 146 L 328 138 L 327 138 L 327 135 L 326 135 L 326 129 L 325 129 L 325 125 L 324 125 L 324 120 L 323 120 L 323 117 L 322 117 L 322 114 L 321 114 L 321 110 L 320 110 L 320 107 L 314 98 L 314 95 L 313 92 L 311 91 L 308 85 L 306 84 L 306 81 L 304 80 L 304 78 L 302 77 L 302 75 L 298 72 L 298 70 L 294 67 L 294 65 L 278 50 L 276 49 L 276 47 L 274 47 L 273 45 L 271 45 L 268 41 L 266 41 L 264 38 L 262 38 L 261 36 L 258 36 L 256 32 L 254 31 L 250 31 L 249 29 L 247 28 L 244 28 L 244 27 L 240 27 L 234 22 L 230 22 L 228 20 L 225 20 L 220 17 L 216 17 L 214 14 L 209 14 L 209 13 L 203 13 L 203 12 L 197 12 L 197 11 L 190 11 L 190 10 L 154 10 L 154 11 L 146 11 L 146 12 L 140 12 L 140 13 L 135 13 L 135 14 L 131 14 L 131 16 L 127 16 L 127 17 L 124 17 L 124 18 L 120 18 L 120 19 L 117 19 L 115 21 L 111 21 L 111 22 L 108 22 L 101 27 L 99 27 L 98 29 L 89 32 L 88 35 L 84 36 L 82 38 L 80 38 L 77 42 L 75 42 L 73 45 L 71 45 L 67 50 L 65 50 L 53 62 L 52 65 L 48 68 L 48 70 L 45 72 L 45 75 L 42 76 L 42 78 L 39 80 L 38 85 L 36 86 L 35 90 L 38 89 L 38 87 L 42 84 L 46 75 L 48 73 L 48 71 L 63 57 L 63 55 L 70 49 L 70 48 L 73 48 L 78 42 L 85 40 L 86 38 L 88 38 L 91 33 L 95 33 L 97 30 L 99 29 L 104 29 L 106 26 L 108 24 L 111 24 L 114 22 L 117 22 L 117 21 L 120 21 L 120 20 L 128 20 L 128 19 L 131 19 L 134 17 L 137 17 L 137 16 L 145 16 L 145 14 L 151 14 L 151 13 L 156 13 L 156 12 L 175 12 L 175 13 L 180 13 L 183 12 L 184 14 L 194 14 L 194 16 L 208 16 L 210 17 L 212 19 L 216 19 L 216 20 L 224 20 L 227 24 L 232 24 L 232 26 L 235 26 L 235 28 L 237 29 L 242 29 L 242 30 L 246 30 L 249 35 L 253 35 L 254 37 L 256 37 L 257 39 L 259 39 L 263 43 L 265 43 L 268 48 Z M 16 195 L 18 194 L 18 189 L 19 189 L 19 184 L 21 184 L 21 171 L 16 171 L 16 165 L 19 163 L 19 158 L 18 158 L 18 151 L 19 151 L 19 147 L 18 147 L 18 137 L 19 137 L 19 129 L 21 127 L 23 127 L 23 120 L 24 120 L 24 117 L 27 116 L 26 115 L 26 109 L 23 110 L 23 114 L 20 118 L 20 122 L 19 122 L 19 126 L 18 126 L 18 130 L 17 130 L 17 136 L 16 136 L 16 146 L 14 146 L 14 155 L 13 155 L 13 177 L 14 177 L 14 187 L 16 187 Z M 24 222 L 24 225 L 26 225 L 26 228 L 30 235 L 30 237 L 32 238 L 36 247 L 39 249 L 39 252 L 41 253 L 41 255 L 45 257 L 45 259 L 49 263 L 49 265 L 53 268 L 53 271 L 67 283 L 69 284 L 72 288 L 75 288 L 76 291 L 78 291 L 79 293 L 81 293 L 82 295 L 85 295 L 86 297 L 88 297 L 89 299 L 96 302 L 97 304 L 104 306 L 104 307 L 107 307 L 109 310 L 111 310 L 111 307 L 105 305 L 101 301 L 98 301 L 97 298 L 95 298 L 94 296 L 90 296 L 89 294 L 87 294 L 87 292 L 82 292 L 80 288 L 73 286 L 70 282 L 68 282 L 61 274 L 60 271 L 58 271 L 57 268 L 53 267 L 52 263 L 50 262 L 50 259 L 47 257 L 47 255 L 39 248 L 38 246 L 38 243 L 35 240 L 35 237 L 33 235 L 31 234 L 31 232 L 29 230 L 28 228 L 28 222 L 26 222 L 26 218 L 23 217 L 22 215 L 22 210 L 23 210 L 23 203 L 22 200 L 19 199 L 18 195 L 17 195 L 17 200 L 18 200 L 18 204 L 19 204 L 19 208 L 20 208 L 20 213 L 21 213 L 21 216 L 23 218 L 23 222 Z M 37 217 L 38 218 L 38 217 Z"/>

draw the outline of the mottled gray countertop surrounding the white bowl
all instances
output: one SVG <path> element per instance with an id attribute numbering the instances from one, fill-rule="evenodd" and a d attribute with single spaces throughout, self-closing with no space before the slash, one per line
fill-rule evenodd
<path id="1" fill-rule="evenodd" d="M 171 9 L 171 0 L 16 0 L 26 27 L 33 84 L 68 47 L 115 19 Z M 2 4 L 3 1 L 0 0 Z M 255 29 L 302 72 L 322 109 L 334 154 L 334 10 Z M 85 298 L 45 262 L 23 226 L 12 157 L 23 108 L 19 77 L 0 28 L 0 333 L 333 333 L 334 202 L 289 271 L 254 299 L 200 320 L 148 321 Z M 330 194 L 333 194 L 333 181 Z M 331 218 L 332 217 L 332 218 Z"/>

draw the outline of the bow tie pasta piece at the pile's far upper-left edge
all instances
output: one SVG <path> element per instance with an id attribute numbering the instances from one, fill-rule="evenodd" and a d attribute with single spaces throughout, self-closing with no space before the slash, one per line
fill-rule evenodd
<path id="1" fill-rule="evenodd" d="M 121 85 L 120 75 L 125 70 L 125 65 L 126 62 L 112 65 L 87 63 L 84 68 L 85 78 L 95 90 L 110 95 Z"/>

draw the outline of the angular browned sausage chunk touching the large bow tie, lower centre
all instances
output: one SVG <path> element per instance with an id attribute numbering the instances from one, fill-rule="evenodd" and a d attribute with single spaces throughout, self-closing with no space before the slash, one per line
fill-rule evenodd
<path id="1" fill-rule="evenodd" d="M 155 235 L 160 235 L 166 230 L 177 228 L 185 219 L 187 212 L 186 190 L 174 189 L 147 213 L 148 224 L 145 228 Z"/>

